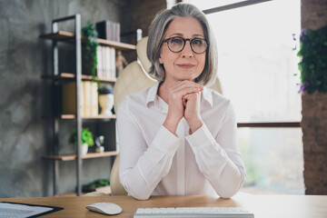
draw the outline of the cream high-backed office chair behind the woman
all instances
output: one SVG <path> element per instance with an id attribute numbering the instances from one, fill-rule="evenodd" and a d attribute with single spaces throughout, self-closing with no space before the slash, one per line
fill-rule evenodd
<path id="1" fill-rule="evenodd" d="M 145 72 L 148 72 L 151 63 L 146 56 L 147 38 L 144 37 L 136 45 L 136 53 L 138 61 L 128 64 L 124 70 L 118 75 L 114 84 L 114 111 L 118 109 L 118 105 L 124 100 L 127 94 L 132 94 L 144 90 L 157 83 Z M 213 84 L 209 88 L 222 93 L 221 84 L 216 77 Z M 119 154 L 114 160 L 112 171 L 110 174 L 110 187 L 113 195 L 126 195 L 123 185 L 119 182 Z"/>

